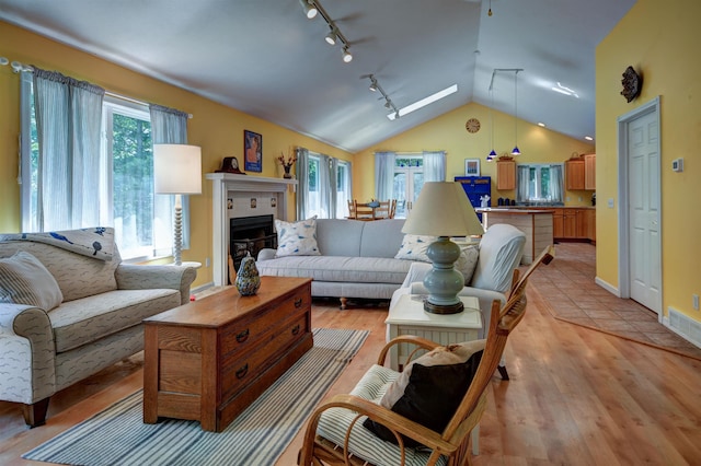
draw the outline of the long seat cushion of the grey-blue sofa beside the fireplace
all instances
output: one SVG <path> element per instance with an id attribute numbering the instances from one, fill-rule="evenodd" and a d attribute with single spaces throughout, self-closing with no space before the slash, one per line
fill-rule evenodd
<path id="1" fill-rule="evenodd" d="M 256 266 L 262 276 L 401 284 L 411 267 L 411 261 L 381 257 L 304 256 L 258 260 Z"/>

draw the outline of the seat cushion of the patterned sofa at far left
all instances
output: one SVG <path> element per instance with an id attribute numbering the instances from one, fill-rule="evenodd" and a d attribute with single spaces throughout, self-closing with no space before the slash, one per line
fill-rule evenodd
<path id="1" fill-rule="evenodd" d="M 180 306 L 180 291 L 115 290 L 62 303 L 49 313 L 56 352 L 78 348 Z"/>

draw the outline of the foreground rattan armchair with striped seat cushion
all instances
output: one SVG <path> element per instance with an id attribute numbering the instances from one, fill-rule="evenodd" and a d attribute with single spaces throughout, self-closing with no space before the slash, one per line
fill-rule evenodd
<path id="1" fill-rule="evenodd" d="M 392 345 L 410 342 L 417 349 L 430 351 L 427 356 L 433 353 L 432 357 L 436 357 L 440 351 L 453 351 L 450 347 L 440 347 L 421 337 L 403 335 L 391 340 L 382 349 L 377 364 L 366 372 L 349 395 L 336 395 L 314 410 L 307 424 L 298 464 L 300 466 L 470 464 L 471 432 L 478 427 L 485 410 L 486 388 L 499 363 L 508 336 L 526 312 L 526 283 L 527 279 L 519 281 L 519 286 L 513 290 L 512 298 L 503 308 L 499 310 L 499 300 L 492 303 L 492 318 L 486 340 L 457 346 L 467 348 L 473 345 L 470 347 L 472 350 L 483 348 L 483 352 L 476 371 L 471 372 L 473 376 L 471 382 L 468 382 L 469 386 L 464 389 L 462 397 L 458 398 L 457 408 L 449 412 L 449 419 L 444 428 L 430 429 L 411 419 L 415 416 L 398 412 L 397 405 L 393 405 L 392 409 L 384 406 L 384 397 L 397 389 L 395 381 L 401 377 L 400 373 L 384 366 L 384 359 Z M 457 353 L 459 350 L 455 351 Z M 417 351 L 414 351 L 410 358 L 416 354 Z M 474 364 L 472 360 L 474 356 L 473 352 L 467 363 L 455 365 Z M 418 362 L 416 364 L 416 368 L 412 368 L 409 384 L 416 374 L 414 371 L 425 373 L 422 372 L 425 368 L 422 369 L 423 365 Z M 412 364 L 404 364 L 404 371 L 409 371 L 411 366 Z M 434 368 L 443 366 L 434 365 Z M 473 365 L 471 368 L 473 369 Z M 428 377 L 427 381 L 432 382 L 427 389 L 429 393 L 437 393 L 437 385 L 450 383 L 453 380 L 452 376 Z M 411 392 L 406 388 L 403 393 L 402 396 L 406 396 Z M 448 399 L 455 399 L 440 395 L 437 397 L 440 400 L 438 405 L 445 404 Z M 430 398 L 436 396 L 424 398 L 422 403 L 432 401 Z M 397 403 L 400 401 L 401 398 Z M 433 399 L 434 404 L 435 401 Z M 416 405 L 409 404 L 409 406 Z M 430 411 L 430 409 L 426 410 L 424 407 L 424 411 Z"/>

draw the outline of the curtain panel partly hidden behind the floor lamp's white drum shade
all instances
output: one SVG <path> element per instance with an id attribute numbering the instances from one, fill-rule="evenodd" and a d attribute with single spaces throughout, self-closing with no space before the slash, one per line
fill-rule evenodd
<path id="1" fill-rule="evenodd" d="M 187 118 L 184 112 L 149 104 L 151 140 L 154 144 L 186 144 Z M 152 180 L 151 180 L 152 182 Z M 183 201 L 183 248 L 189 247 L 189 196 Z M 153 246 L 157 251 L 173 247 L 174 195 L 153 196 Z"/>

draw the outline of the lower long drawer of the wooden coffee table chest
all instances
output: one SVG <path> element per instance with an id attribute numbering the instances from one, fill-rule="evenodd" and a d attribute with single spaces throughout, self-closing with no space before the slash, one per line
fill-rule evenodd
<path id="1" fill-rule="evenodd" d="M 275 363 L 281 352 L 311 331 L 307 328 L 307 322 L 306 314 L 288 318 L 265 335 L 255 346 L 255 351 L 232 353 L 226 358 L 221 368 L 221 399 L 226 400 L 253 382 Z"/>

